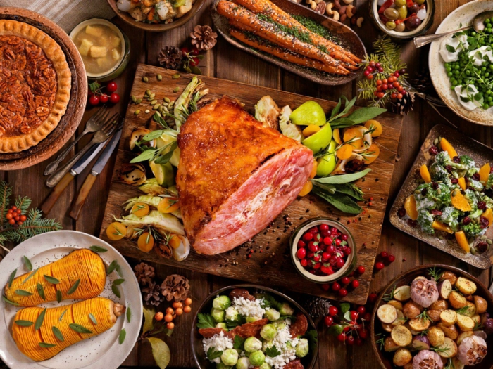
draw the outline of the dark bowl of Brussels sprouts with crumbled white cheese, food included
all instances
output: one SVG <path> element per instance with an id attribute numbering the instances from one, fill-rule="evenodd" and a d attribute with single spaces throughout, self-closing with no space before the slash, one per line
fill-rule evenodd
<path id="1" fill-rule="evenodd" d="M 235 296 L 239 297 L 237 299 L 231 294 L 232 291 L 246 293 L 236 294 Z M 248 299 L 254 299 L 254 302 L 261 302 L 258 305 L 261 306 L 261 311 L 256 312 L 255 306 L 252 307 L 246 303 Z M 250 313 L 244 314 L 242 309 L 248 309 Z M 256 317 L 256 313 L 262 316 L 258 315 Z M 296 318 L 297 315 L 299 318 Z M 251 368 L 251 365 L 254 365 L 261 369 L 270 369 L 271 365 L 268 362 L 272 363 L 273 357 L 276 360 L 280 360 L 281 357 L 287 357 L 286 353 L 288 351 L 282 349 L 282 344 L 279 345 L 279 342 L 283 332 L 294 334 L 294 331 L 299 331 L 296 328 L 299 328 L 299 323 L 304 321 L 301 315 L 306 318 L 308 325 L 306 332 L 294 339 L 289 338 L 287 341 L 282 339 L 282 341 L 285 341 L 285 349 L 291 350 L 292 354 L 289 354 L 292 355 L 289 359 L 290 361 L 299 360 L 305 369 L 313 369 L 318 357 L 316 325 L 305 309 L 297 302 L 285 294 L 260 285 L 232 285 L 216 290 L 204 299 L 204 302 L 199 306 L 192 324 L 190 337 L 196 367 L 200 369 L 243 369 Z M 250 330 L 244 330 L 245 323 L 254 325 L 261 318 L 263 318 L 264 322 L 268 319 L 268 323 L 261 325 L 261 329 L 260 325 L 258 325 L 258 331 L 255 333 L 252 331 L 252 335 L 243 334 L 246 331 L 250 332 Z M 298 324 L 297 319 L 299 319 Z M 206 322 L 208 320 L 210 321 L 209 323 Z M 237 325 L 237 328 L 233 328 L 234 325 Z M 206 328 L 206 330 L 211 332 L 212 337 L 204 339 L 203 335 L 199 333 L 199 327 L 211 327 Z M 218 328 L 223 328 L 220 334 L 216 334 Z M 236 335 L 234 339 L 231 338 L 227 333 L 231 332 L 232 329 L 242 330 L 244 337 Z M 304 329 L 302 330 L 305 331 Z M 226 333 L 224 333 L 225 331 Z M 201 330 L 201 332 L 203 331 Z M 212 335 L 212 333 L 215 334 Z M 225 343 L 227 337 L 230 337 L 230 344 L 234 343 L 234 346 L 232 348 L 220 347 L 221 344 Z M 206 342 L 208 343 L 206 344 Z M 216 347 L 216 342 L 218 342 L 218 347 Z M 204 351 L 204 348 L 207 347 L 211 347 L 208 352 L 219 363 L 208 360 L 208 355 Z M 281 347 L 282 352 L 279 351 L 279 347 Z M 272 368 L 274 367 L 272 366 Z"/>

